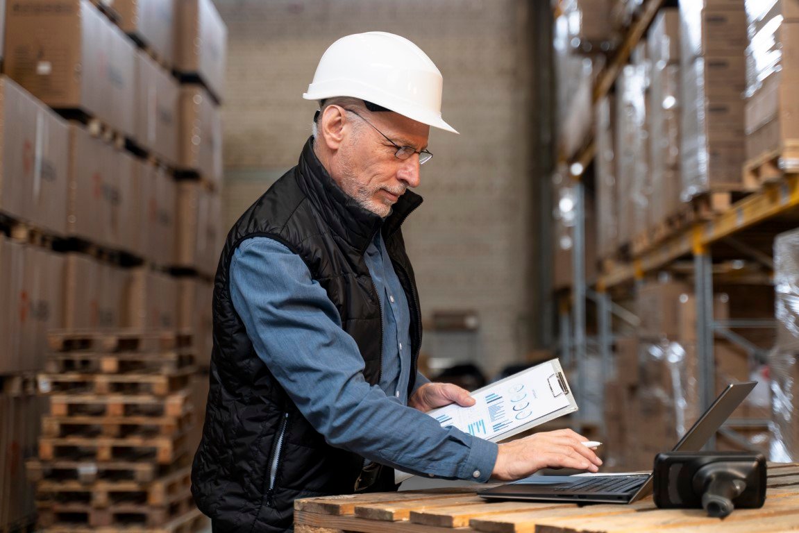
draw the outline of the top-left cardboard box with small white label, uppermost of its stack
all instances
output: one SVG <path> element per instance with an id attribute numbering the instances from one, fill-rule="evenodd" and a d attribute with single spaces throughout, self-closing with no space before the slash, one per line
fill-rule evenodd
<path id="1" fill-rule="evenodd" d="M 88 0 L 28 0 L 6 11 L 5 72 L 47 105 L 133 133 L 133 43 Z"/>

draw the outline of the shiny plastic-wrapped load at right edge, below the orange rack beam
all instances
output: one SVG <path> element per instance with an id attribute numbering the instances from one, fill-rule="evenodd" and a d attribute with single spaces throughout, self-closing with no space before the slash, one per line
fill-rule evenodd
<path id="1" fill-rule="evenodd" d="M 771 459 L 799 459 L 797 353 L 799 353 L 799 230 L 774 241 L 774 292 L 777 345 L 769 353 L 773 400 Z"/>

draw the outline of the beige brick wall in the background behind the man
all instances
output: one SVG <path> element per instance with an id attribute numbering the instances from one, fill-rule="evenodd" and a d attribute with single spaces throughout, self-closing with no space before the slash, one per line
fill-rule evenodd
<path id="1" fill-rule="evenodd" d="M 296 164 L 316 105 L 301 94 L 324 50 L 346 34 L 384 30 L 419 45 L 444 77 L 422 208 L 403 227 L 425 316 L 475 309 L 468 340 L 488 372 L 530 343 L 531 68 L 524 0 L 216 0 L 229 27 L 225 167 L 228 221 Z M 262 186 L 259 186 L 261 185 Z M 440 340 L 440 337 L 439 337 Z M 463 343 L 427 336 L 423 349 Z"/>

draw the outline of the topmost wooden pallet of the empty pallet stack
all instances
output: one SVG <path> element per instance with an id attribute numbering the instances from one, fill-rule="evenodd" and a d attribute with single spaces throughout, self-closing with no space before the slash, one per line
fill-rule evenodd
<path id="1" fill-rule="evenodd" d="M 168 352 L 177 348 L 189 348 L 192 334 L 189 331 L 141 331 L 141 330 L 66 330 L 50 332 L 50 349 L 56 352 L 84 350 L 91 352 Z"/>

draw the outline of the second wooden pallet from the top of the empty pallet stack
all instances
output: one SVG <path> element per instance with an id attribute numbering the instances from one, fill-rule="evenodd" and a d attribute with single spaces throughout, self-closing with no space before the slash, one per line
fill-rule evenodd
<path id="1" fill-rule="evenodd" d="M 173 374 L 197 361 L 193 348 L 163 352 L 54 352 L 45 362 L 46 372 L 93 372 L 126 374 L 159 372 Z"/>

